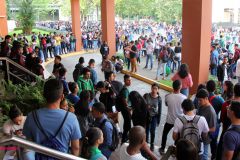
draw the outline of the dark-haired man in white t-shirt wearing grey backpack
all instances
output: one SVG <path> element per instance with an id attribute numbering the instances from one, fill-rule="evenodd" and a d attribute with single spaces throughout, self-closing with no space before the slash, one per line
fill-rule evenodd
<path id="1" fill-rule="evenodd" d="M 197 149 L 199 156 L 203 154 L 202 140 L 206 140 L 209 132 L 207 121 L 204 117 L 194 113 L 192 100 L 185 99 L 182 103 L 183 116 L 174 122 L 173 139 L 178 143 L 179 139 L 191 141 Z"/>

